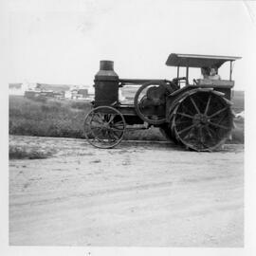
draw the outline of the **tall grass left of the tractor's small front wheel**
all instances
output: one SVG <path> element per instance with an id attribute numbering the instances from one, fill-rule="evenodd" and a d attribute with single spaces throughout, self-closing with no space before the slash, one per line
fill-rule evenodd
<path id="1" fill-rule="evenodd" d="M 9 97 L 9 134 L 42 137 L 82 137 L 88 103 L 31 101 Z"/>

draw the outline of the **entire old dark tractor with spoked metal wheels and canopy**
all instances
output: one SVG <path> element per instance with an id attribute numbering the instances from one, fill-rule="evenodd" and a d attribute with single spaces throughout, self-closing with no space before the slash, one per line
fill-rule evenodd
<path id="1" fill-rule="evenodd" d="M 171 81 L 119 79 L 114 63 L 101 61 L 94 80 L 95 100 L 84 120 L 85 137 L 95 147 L 113 148 L 127 129 L 155 126 L 187 149 L 218 150 L 233 128 L 231 77 L 238 59 L 241 57 L 172 53 L 166 64 L 175 66 L 177 75 Z M 190 83 L 190 68 L 218 70 L 226 62 L 229 80 L 202 77 Z M 179 76 L 180 68 L 185 68 L 185 77 Z M 119 101 L 119 89 L 127 85 L 138 88 L 130 104 Z"/>

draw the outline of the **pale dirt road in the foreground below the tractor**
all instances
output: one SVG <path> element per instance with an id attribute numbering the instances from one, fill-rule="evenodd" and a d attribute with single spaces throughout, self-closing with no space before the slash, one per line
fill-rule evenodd
<path id="1" fill-rule="evenodd" d="M 243 145 L 195 153 L 166 143 L 9 143 L 56 152 L 9 161 L 12 246 L 243 247 Z"/>

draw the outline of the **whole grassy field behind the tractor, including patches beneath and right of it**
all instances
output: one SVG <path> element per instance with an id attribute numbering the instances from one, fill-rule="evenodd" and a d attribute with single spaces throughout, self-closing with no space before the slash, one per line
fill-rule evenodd
<path id="1" fill-rule="evenodd" d="M 244 92 L 234 92 L 235 113 L 244 110 Z M 84 138 L 83 120 L 91 109 L 84 101 L 32 101 L 22 96 L 9 96 L 9 134 L 38 137 Z M 244 119 L 235 120 L 233 143 L 244 143 Z M 157 128 L 129 131 L 124 139 L 166 140 Z"/>

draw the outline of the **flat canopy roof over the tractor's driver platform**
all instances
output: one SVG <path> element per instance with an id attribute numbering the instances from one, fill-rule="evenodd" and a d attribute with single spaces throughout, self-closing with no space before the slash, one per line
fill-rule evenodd
<path id="1" fill-rule="evenodd" d="M 226 62 L 233 62 L 239 59 L 241 57 L 172 53 L 169 55 L 166 65 L 185 67 L 215 66 L 219 68 Z"/>

